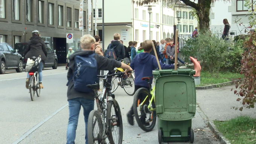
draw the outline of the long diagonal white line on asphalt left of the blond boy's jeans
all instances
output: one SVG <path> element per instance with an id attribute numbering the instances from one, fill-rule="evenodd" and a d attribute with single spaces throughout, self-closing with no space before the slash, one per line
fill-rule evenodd
<path id="1" fill-rule="evenodd" d="M 26 133 L 24 133 L 24 135 L 22 135 L 17 141 L 13 142 L 12 144 L 18 144 L 20 143 L 23 139 L 25 139 L 27 136 L 29 136 L 32 132 L 34 132 L 38 127 L 40 127 L 41 125 L 43 125 L 46 121 L 50 120 L 50 118 L 52 118 L 54 115 L 58 114 L 58 112 L 60 112 L 62 109 L 66 108 L 69 104 L 67 103 L 66 105 L 62 106 L 60 109 L 58 109 L 56 112 L 54 112 L 53 114 L 51 114 L 48 118 L 44 119 L 43 121 L 41 121 L 40 123 L 38 123 L 37 125 L 35 125 L 34 127 L 32 127 L 32 129 L 30 129 L 29 131 L 27 131 Z"/>

